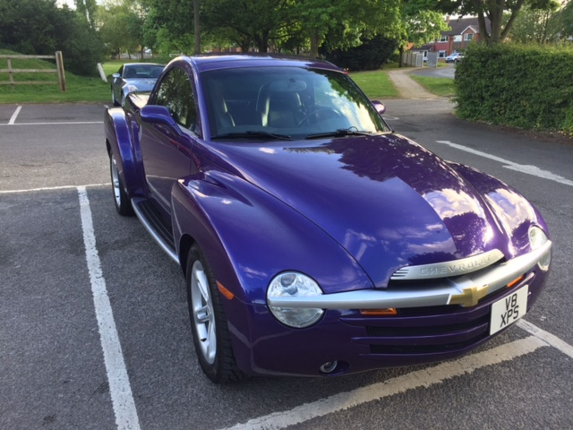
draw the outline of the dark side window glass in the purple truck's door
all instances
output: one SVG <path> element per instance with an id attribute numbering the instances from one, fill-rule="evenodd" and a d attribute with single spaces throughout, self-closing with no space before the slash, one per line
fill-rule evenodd
<path id="1" fill-rule="evenodd" d="M 195 110 L 193 88 L 183 69 L 171 69 L 163 77 L 154 104 L 165 106 L 176 123 L 196 132 L 197 110 Z"/>

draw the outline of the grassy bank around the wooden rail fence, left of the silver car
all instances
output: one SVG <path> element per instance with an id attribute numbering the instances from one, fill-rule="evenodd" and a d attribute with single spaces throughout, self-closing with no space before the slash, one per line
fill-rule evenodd
<path id="1" fill-rule="evenodd" d="M 0 49 L 0 54 L 17 54 Z M 64 65 L 66 59 L 64 58 Z M 13 69 L 55 69 L 50 60 L 12 59 Z M 0 58 L 0 69 L 7 68 L 6 58 Z M 14 73 L 14 81 L 53 81 L 50 85 L 0 85 L 0 103 L 105 103 L 110 101 L 109 84 L 99 77 L 77 76 L 66 73 L 66 92 L 57 85 L 57 73 Z M 8 73 L 0 73 L 0 81 L 9 81 Z"/>

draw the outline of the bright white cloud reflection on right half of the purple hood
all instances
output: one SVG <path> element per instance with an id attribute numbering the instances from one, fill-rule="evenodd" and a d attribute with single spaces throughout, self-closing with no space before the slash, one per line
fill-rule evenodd
<path id="1" fill-rule="evenodd" d="M 484 209 L 475 197 L 470 196 L 464 190 L 446 188 L 430 191 L 423 194 L 425 200 L 434 208 L 442 220 L 452 218 L 464 213 L 474 213 L 480 218 L 485 218 Z"/>

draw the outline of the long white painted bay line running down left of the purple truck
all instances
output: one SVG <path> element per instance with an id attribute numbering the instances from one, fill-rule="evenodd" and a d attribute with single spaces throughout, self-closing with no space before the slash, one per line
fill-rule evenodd
<path id="1" fill-rule="evenodd" d="M 93 232 L 92 210 L 89 206 L 88 193 L 83 186 L 77 187 L 77 193 L 80 198 L 85 260 L 88 264 L 89 280 L 92 284 L 93 306 L 100 331 L 101 349 L 104 353 L 115 423 L 119 430 L 139 430 L 138 413 L 135 409 L 131 385 L 129 385 L 129 377 L 105 287 L 105 279 L 101 272 L 101 261 L 96 248 L 96 236 Z"/>

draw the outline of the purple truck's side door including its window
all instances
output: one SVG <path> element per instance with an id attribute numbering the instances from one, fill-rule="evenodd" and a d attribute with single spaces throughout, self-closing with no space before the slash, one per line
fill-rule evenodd
<path id="1" fill-rule="evenodd" d="M 178 124 L 143 123 L 141 148 L 149 196 L 167 215 L 171 213 L 171 187 L 190 174 L 191 151 L 197 138 L 197 108 L 187 72 L 174 67 L 163 75 L 150 104 L 167 107 Z"/>

